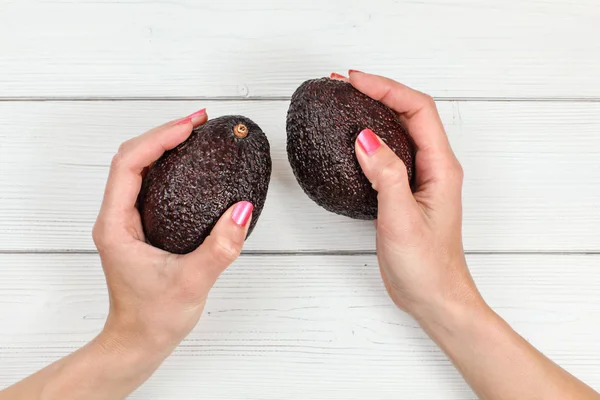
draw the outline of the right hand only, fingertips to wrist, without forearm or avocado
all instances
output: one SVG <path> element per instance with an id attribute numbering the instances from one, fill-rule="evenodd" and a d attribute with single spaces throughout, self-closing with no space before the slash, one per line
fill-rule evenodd
<path id="1" fill-rule="evenodd" d="M 379 76 L 352 71 L 350 82 L 396 111 L 416 147 L 413 193 L 404 163 L 377 132 L 366 129 L 356 142 L 378 192 L 377 255 L 391 298 L 417 319 L 440 304 L 479 301 L 461 239 L 463 171 L 435 102 Z"/>

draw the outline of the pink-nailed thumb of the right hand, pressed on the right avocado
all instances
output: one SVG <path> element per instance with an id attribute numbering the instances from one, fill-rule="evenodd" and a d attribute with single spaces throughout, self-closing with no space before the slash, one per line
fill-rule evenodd
<path id="1" fill-rule="evenodd" d="M 365 129 L 356 138 L 355 146 L 358 162 L 378 193 L 380 215 L 382 210 L 416 206 L 404 162 L 379 136 Z"/>

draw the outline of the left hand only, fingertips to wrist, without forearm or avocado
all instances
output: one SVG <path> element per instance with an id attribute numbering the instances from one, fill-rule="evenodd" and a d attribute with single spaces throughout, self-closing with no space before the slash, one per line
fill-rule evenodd
<path id="1" fill-rule="evenodd" d="M 114 156 L 93 238 L 106 275 L 107 337 L 170 353 L 198 322 L 209 290 L 240 254 L 252 205 L 234 205 L 194 252 L 174 255 L 144 240 L 137 197 L 145 169 L 206 122 L 201 110 L 121 145 Z"/>

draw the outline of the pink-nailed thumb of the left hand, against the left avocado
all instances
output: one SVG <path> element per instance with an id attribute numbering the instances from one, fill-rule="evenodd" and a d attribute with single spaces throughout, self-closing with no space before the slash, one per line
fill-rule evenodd
<path id="1" fill-rule="evenodd" d="M 184 268 L 201 274 L 210 287 L 240 253 L 254 206 L 248 201 L 235 204 L 221 216 L 204 243 L 192 253 L 182 256 Z"/>

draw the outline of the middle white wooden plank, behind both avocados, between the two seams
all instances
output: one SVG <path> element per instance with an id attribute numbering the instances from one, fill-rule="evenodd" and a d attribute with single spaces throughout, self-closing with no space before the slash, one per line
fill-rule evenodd
<path id="1" fill-rule="evenodd" d="M 370 223 L 304 195 L 285 154 L 286 102 L 0 103 L 0 250 L 92 250 L 91 227 L 121 141 L 207 106 L 269 136 L 265 210 L 246 250 L 374 250 Z M 600 104 L 442 102 L 465 169 L 468 251 L 598 251 Z"/>

